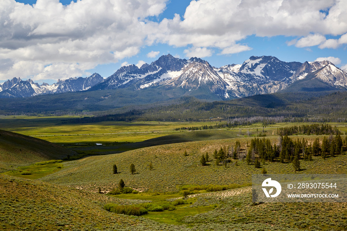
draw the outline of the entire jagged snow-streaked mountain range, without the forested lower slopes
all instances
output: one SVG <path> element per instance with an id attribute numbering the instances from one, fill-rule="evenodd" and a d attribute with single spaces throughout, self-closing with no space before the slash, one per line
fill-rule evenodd
<path id="1" fill-rule="evenodd" d="M 204 99 L 210 94 L 228 100 L 278 91 L 345 90 L 347 71 L 330 61 L 285 62 L 272 56 L 252 56 L 242 64 L 217 68 L 200 58 L 180 59 L 169 54 L 141 67 L 122 66 L 105 79 L 94 73 L 86 78 L 39 85 L 30 79 L 13 78 L 0 85 L 0 98 L 120 88 L 133 91 L 156 88 L 179 91 L 182 96 Z"/>

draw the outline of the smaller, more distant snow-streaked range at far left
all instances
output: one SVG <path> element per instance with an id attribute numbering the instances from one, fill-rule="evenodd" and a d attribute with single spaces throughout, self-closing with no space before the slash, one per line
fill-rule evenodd
<path id="1" fill-rule="evenodd" d="M 29 97 L 43 94 L 83 91 L 100 83 L 103 79 L 104 78 L 99 74 L 94 73 L 86 78 L 69 78 L 66 80 L 58 80 L 57 83 L 52 85 L 47 83 L 39 85 L 38 83 L 34 83 L 31 79 L 21 80 L 20 78 L 13 78 L 0 85 L 0 98 Z"/>

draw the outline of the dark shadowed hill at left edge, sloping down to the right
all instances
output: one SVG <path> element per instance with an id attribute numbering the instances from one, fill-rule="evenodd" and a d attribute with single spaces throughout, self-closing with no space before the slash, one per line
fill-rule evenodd
<path id="1" fill-rule="evenodd" d="M 0 171 L 10 166 L 63 159 L 75 152 L 45 140 L 0 130 Z"/>

